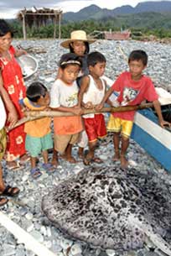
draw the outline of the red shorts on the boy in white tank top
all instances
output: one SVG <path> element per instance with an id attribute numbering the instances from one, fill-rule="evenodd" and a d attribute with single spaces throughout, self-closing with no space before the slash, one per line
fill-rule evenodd
<path id="1" fill-rule="evenodd" d="M 89 142 L 96 141 L 97 138 L 106 136 L 106 124 L 103 114 L 95 114 L 94 118 L 83 119 Z"/>

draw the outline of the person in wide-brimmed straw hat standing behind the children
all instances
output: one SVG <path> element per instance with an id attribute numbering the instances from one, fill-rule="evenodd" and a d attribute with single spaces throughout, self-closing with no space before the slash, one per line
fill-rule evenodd
<path id="1" fill-rule="evenodd" d="M 95 39 L 88 39 L 84 30 L 75 30 L 71 32 L 70 39 L 67 39 L 60 44 L 64 48 L 70 49 L 70 53 L 74 53 L 75 55 L 79 56 L 82 60 L 82 67 L 76 79 L 76 82 L 79 87 L 82 77 L 87 76 L 89 74 L 89 70 L 87 67 L 87 55 L 90 51 L 90 44 L 94 43 L 95 41 Z M 60 73 L 61 71 L 59 69 L 58 78 L 60 78 Z M 88 138 L 85 131 L 83 131 L 81 133 L 80 141 L 78 143 L 78 155 L 80 158 L 83 158 L 83 151 L 87 144 Z"/>

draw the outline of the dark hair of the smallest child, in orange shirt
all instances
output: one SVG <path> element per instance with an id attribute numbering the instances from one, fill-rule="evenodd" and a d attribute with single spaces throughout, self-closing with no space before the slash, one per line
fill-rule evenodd
<path id="1" fill-rule="evenodd" d="M 47 91 L 47 88 L 41 82 L 34 81 L 28 87 L 26 97 L 28 97 L 31 102 L 38 102 L 41 96 L 45 97 Z"/>

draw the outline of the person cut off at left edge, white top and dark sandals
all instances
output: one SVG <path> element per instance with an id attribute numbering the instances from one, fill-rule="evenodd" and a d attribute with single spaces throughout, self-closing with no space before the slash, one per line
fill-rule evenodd
<path id="1" fill-rule="evenodd" d="M 3 97 L 3 100 L 1 97 Z M 6 130 L 4 128 L 7 116 L 3 102 L 5 103 L 5 107 L 8 110 L 8 122 L 10 123 L 9 128 L 12 128 L 18 120 L 17 112 L 15 110 L 15 107 L 13 106 L 13 103 L 8 97 L 7 91 L 3 87 L 0 87 L 0 161 L 3 159 L 7 145 L 7 135 Z M 3 198 L 2 196 L 16 196 L 18 195 L 18 192 L 18 187 L 12 187 L 10 185 L 5 186 L 3 181 L 3 168 L 0 162 L 0 206 L 3 206 L 8 202 L 8 199 Z"/>

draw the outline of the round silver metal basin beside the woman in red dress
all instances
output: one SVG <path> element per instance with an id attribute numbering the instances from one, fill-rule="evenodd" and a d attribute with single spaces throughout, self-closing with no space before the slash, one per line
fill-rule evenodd
<path id="1" fill-rule="evenodd" d="M 17 58 L 19 65 L 22 68 L 23 79 L 27 80 L 38 70 L 38 61 L 31 55 L 21 55 Z"/>

